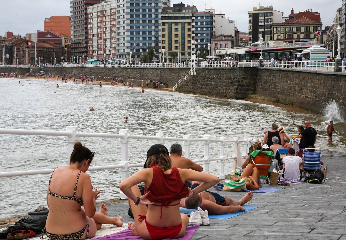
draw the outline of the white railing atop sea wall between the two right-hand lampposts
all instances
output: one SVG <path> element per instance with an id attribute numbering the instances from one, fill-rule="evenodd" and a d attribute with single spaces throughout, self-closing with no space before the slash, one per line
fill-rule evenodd
<path id="1" fill-rule="evenodd" d="M 335 71 L 335 62 L 265 60 L 263 61 L 263 65 L 269 68 L 287 68 L 292 70 Z"/>

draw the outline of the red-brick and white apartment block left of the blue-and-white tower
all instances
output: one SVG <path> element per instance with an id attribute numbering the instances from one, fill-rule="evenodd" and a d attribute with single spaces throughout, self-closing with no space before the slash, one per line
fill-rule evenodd
<path id="1" fill-rule="evenodd" d="M 89 59 L 116 60 L 116 1 L 87 8 Z"/>

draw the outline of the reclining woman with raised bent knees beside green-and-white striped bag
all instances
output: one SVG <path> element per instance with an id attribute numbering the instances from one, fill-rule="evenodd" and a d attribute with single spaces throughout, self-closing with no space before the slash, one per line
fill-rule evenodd
<path id="1" fill-rule="evenodd" d="M 261 188 L 261 179 L 260 173 L 258 172 L 257 167 L 254 167 L 252 163 L 249 163 L 243 172 L 243 174 L 238 177 L 233 175 L 229 178 L 231 182 L 239 182 L 240 179 L 244 179 L 246 182 L 246 189 L 248 190 L 258 190 Z"/>

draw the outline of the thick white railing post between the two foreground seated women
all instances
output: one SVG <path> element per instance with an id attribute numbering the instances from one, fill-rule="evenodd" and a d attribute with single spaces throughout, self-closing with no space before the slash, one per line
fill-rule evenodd
<path id="1" fill-rule="evenodd" d="M 128 143 L 129 143 L 129 130 L 128 129 L 120 129 L 119 134 L 122 137 L 119 138 L 120 142 L 120 164 L 123 166 L 120 168 L 121 182 L 124 181 L 129 174 L 129 160 L 128 160 Z M 120 191 L 120 199 L 127 199 L 127 196 Z"/>

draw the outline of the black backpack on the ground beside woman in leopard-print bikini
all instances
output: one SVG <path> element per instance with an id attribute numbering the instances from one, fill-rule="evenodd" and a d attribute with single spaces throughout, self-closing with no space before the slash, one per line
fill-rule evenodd
<path id="1" fill-rule="evenodd" d="M 34 212 L 28 212 L 28 215 L 17 221 L 22 229 L 33 230 L 36 233 L 41 233 L 42 229 L 46 226 L 48 217 L 48 209 L 43 206 L 38 206 Z"/>

